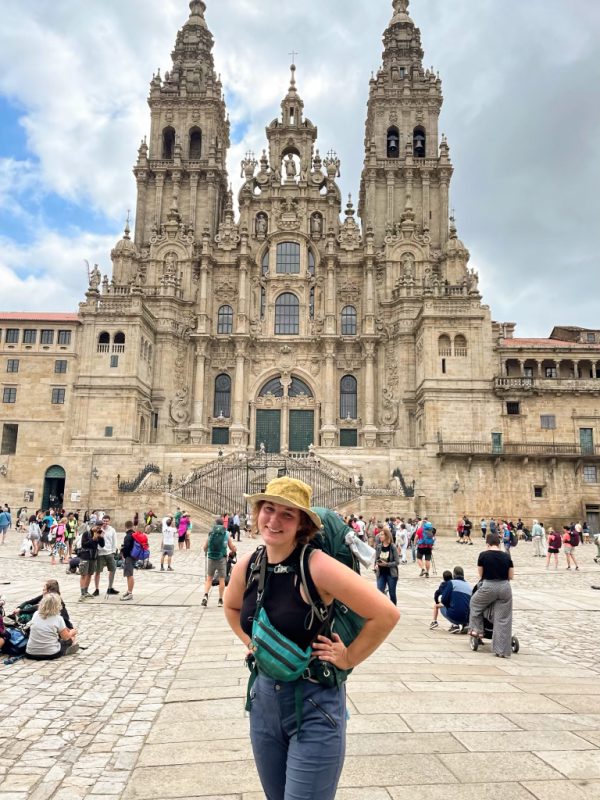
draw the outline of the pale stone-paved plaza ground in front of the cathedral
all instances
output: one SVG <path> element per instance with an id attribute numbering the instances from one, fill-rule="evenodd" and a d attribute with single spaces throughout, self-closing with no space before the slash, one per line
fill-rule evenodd
<path id="1" fill-rule="evenodd" d="M 10 544 L 0 548 L 7 609 L 57 577 L 88 647 L 57 662 L 0 663 L 0 800 L 263 798 L 243 710 L 243 648 L 216 595 L 207 609 L 199 605 L 201 541 L 175 553 L 175 572 L 137 573 L 133 603 L 101 597 L 77 604 L 76 576 L 51 567 L 46 555 L 23 559 Z M 246 540 L 240 549 L 255 544 Z M 480 549 L 479 541 L 442 540 L 438 572 L 462 564 L 472 578 Z M 430 631 L 440 576 L 426 580 L 416 567 L 402 567 L 402 619 L 348 683 L 337 798 L 597 800 L 594 554 L 581 546 L 579 572 L 561 561 L 547 573 L 531 545 L 519 544 L 514 632 L 521 652 L 510 660 L 492 657 L 489 645 L 473 653 L 445 622 Z"/>

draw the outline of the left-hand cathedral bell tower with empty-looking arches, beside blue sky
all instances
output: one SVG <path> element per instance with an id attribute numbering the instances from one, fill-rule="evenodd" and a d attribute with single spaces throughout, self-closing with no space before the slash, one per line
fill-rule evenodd
<path id="1" fill-rule="evenodd" d="M 137 180 L 135 244 L 148 242 L 165 223 L 178 223 L 196 238 L 216 233 L 227 193 L 229 121 L 214 70 L 213 37 L 203 0 L 177 34 L 172 69 L 150 82 L 150 141 L 142 142 Z"/>

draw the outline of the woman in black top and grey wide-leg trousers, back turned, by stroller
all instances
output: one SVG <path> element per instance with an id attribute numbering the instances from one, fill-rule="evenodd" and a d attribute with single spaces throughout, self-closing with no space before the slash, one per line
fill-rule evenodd
<path id="1" fill-rule="evenodd" d="M 471 597 L 469 632 L 483 638 L 483 612 L 494 606 L 492 652 L 499 658 L 510 658 L 512 640 L 512 589 L 514 565 L 508 553 L 500 550 L 500 536 L 488 533 L 487 550 L 479 554 L 477 570 L 480 584 Z"/>

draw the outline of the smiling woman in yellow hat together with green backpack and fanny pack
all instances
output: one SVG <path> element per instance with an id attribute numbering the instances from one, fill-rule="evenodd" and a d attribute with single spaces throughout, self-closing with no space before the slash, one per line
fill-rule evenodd
<path id="1" fill-rule="evenodd" d="M 249 650 L 250 738 L 273 800 L 333 800 L 345 753 L 346 676 L 400 617 L 342 563 L 342 547 L 350 564 L 354 558 L 346 535 L 357 552 L 367 545 L 357 547 L 333 512 L 311 509 L 311 494 L 302 481 L 281 477 L 247 498 L 264 547 L 239 560 L 225 593 L 227 621 Z"/>

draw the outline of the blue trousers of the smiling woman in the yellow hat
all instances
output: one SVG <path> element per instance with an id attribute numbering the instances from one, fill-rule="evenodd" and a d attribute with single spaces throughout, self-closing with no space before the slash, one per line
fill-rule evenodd
<path id="1" fill-rule="evenodd" d="M 302 727 L 295 683 L 259 675 L 250 697 L 250 740 L 267 800 L 334 800 L 346 754 L 346 688 L 301 681 Z"/>

